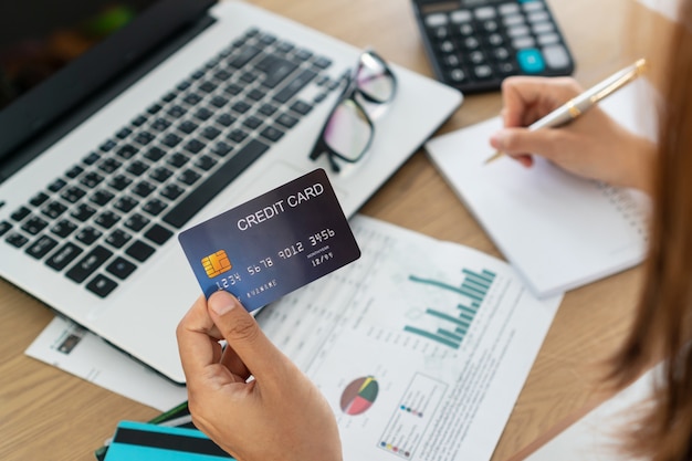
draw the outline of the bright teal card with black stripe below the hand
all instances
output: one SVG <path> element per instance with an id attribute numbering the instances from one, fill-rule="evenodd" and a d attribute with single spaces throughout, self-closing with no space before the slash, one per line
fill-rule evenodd
<path id="1" fill-rule="evenodd" d="M 105 461 L 233 460 L 197 429 L 120 421 Z"/>

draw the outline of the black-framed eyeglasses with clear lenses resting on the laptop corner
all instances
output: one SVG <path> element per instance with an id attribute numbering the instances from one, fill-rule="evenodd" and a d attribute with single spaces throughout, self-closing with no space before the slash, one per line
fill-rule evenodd
<path id="1" fill-rule="evenodd" d="M 385 60 L 373 50 L 364 51 L 346 76 L 346 88 L 329 113 L 310 158 L 316 160 L 326 154 L 335 172 L 342 169 L 339 160 L 360 160 L 375 137 L 375 125 L 365 107 L 391 102 L 396 91 L 397 78 Z"/>

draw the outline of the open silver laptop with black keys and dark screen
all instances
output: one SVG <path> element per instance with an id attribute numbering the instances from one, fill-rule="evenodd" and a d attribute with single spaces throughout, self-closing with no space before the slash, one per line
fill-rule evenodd
<path id="1" fill-rule="evenodd" d="M 315 168 L 352 216 L 462 103 L 391 64 L 336 174 L 308 156 L 361 50 L 237 1 L 4 3 L 0 276 L 180 384 L 178 232 Z"/>

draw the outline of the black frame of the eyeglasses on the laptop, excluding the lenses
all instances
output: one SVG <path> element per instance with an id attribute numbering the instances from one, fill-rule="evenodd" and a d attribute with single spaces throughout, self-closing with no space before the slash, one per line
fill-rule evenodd
<path id="1" fill-rule="evenodd" d="M 369 54 L 370 56 L 379 61 L 384 69 L 382 76 L 387 76 L 391 80 L 391 85 L 392 85 L 391 94 L 389 95 L 387 99 L 380 101 L 378 98 L 375 98 L 358 87 L 357 75 L 365 65 L 363 63 L 363 56 L 366 54 Z M 348 164 L 356 164 L 368 151 L 368 149 L 370 148 L 370 145 L 373 144 L 373 139 L 375 138 L 375 124 L 373 123 L 373 119 L 370 118 L 368 112 L 365 109 L 364 105 L 356 98 L 356 96 L 360 95 L 360 97 L 363 97 L 367 103 L 370 103 L 370 104 L 388 104 L 394 99 L 394 97 L 397 94 L 397 76 L 387 64 L 387 61 L 385 61 L 373 49 L 364 50 L 359 54 L 357 66 L 352 69 L 352 71 L 345 76 L 345 80 L 347 82 L 346 87 L 344 88 L 338 99 L 336 99 L 336 103 L 332 107 L 332 111 L 329 112 L 329 115 L 327 116 L 326 122 L 324 123 L 324 126 L 322 127 L 322 130 L 319 132 L 319 136 L 317 137 L 317 140 L 315 142 L 315 145 L 313 146 L 313 149 L 308 156 L 311 160 L 316 160 L 317 158 L 319 158 L 321 155 L 326 154 L 327 159 L 329 160 L 329 165 L 332 166 L 332 169 L 334 170 L 334 172 L 339 172 L 342 170 L 342 166 L 338 165 L 338 163 L 335 160 L 334 157 L 338 158 L 339 160 L 346 161 Z M 336 109 L 347 101 L 356 105 L 357 109 L 359 111 L 360 114 L 363 114 L 365 122 L 367 122 L 368 127 L 370 129 L 370 136 L 368 138 L 367 144 L 365 145 L 360 154 L 358 154 L 358 156 L 356 156 L 355 158 L 346 157 L 337 153 L 327 144 L 326 138 L 325 138 L 325 133 L 327 130 L 327 127 L 329 126 L 329 122 L 332 121 L 332 117 L 334 116 Z"/>

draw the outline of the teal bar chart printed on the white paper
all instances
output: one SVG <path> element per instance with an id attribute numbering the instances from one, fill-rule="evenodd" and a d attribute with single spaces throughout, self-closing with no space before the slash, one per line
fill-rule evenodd
<path id="1" fill-rule="evenodd" d="M 437 319 L 440 325 L 438 328 L 431 331 L 420 326 L 406 325 L 403 331 L 449 346 L 453 349 L 459 349 L 464 336 L 471 327 L 475 314 L 483 304 L 483 300 L 485 300 L 495 280 L 495 273 L 485 269 L 481 271 L 462 269 L 461 275 L 462 281 L 459 285 L 409 275 L 408 280 L 412 283 L 444 290 L 459 295 L 459 302 L 453 308 L 449 308 L 449 306 L 447 308 L 444 306 L 426 308 L 426 316 Z"/>

